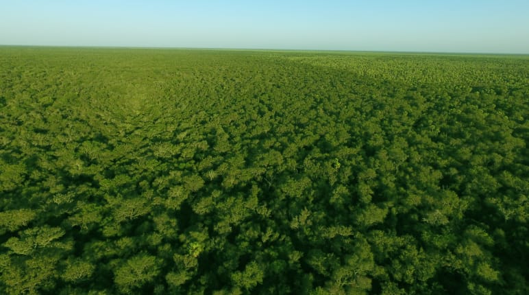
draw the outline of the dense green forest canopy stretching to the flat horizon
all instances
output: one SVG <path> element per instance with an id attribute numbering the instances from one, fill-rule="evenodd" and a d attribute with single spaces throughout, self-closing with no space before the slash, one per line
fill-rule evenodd
<path id="1" fill-rule="evenodd" d="M 529 57 L 0 47 L 0 294 L 529 294 Z"/>

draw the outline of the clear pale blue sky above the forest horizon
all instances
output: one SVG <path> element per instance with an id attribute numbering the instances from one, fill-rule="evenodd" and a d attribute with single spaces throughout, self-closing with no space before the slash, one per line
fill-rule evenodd
<path id="1" fill-rule="evenodd" d="M 0 0 L 0 45 L 529 54 L 529 0 Z"/>

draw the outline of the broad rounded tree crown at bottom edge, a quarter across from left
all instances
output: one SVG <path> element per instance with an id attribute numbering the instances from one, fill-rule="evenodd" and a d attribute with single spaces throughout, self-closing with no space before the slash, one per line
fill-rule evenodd
<path id="1" fill-rule="evenodd" d="M 140 254 L 123 261 L 114 271 L 114 282 L 122 293 L 138 292 L 160 272 L 158 259 Z"/>

